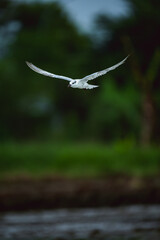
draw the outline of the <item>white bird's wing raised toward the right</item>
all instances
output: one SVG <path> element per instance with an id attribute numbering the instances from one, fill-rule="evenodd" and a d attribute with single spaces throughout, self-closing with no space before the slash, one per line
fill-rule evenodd
<path id="1" fill-rule="evenodd" d="M 106 74 L 107 72 L 109 72 L 109 71 L 111 71 L 111 70 L 114 70 L 115 68 L 117 68 L 117 67 L 119 67 L 121 64 L 123 64 L 123 63 L 127 60 L 128 57 L 129 57 L 129 55 L 128 55 L 125 59 L 123 59 L 121 62 L 113 65 L 112 67 L 106 68 L 106 69 L 104 69 L 104 70 L 102 70 L 102 71 L 99 71 L 99 72 L 92 73 L 92 74 L 90 74 L 90 75 L 82 78 L 81 81 L 87 82 L 87 81 L 89 81 L 89 80 L 93 80 L 94 78 L 100 77 L 100 76 Z"/>

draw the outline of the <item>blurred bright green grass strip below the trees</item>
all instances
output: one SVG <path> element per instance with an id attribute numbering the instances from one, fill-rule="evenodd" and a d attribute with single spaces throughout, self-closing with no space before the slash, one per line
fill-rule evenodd
<path id="1" fill-rule="evenodd" d="M 134 176 L 160 172 L 160 149 L 140 148 L 122 142 L 94 143 L 6 143 L 0 146 L 0 176 L 103 177 Z"/>

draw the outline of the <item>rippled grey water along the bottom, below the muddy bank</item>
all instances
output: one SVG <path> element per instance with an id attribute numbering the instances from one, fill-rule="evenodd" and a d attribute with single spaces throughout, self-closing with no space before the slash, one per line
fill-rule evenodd
<path id="1" fill-rule="evenodd" d="M 0 240 L 159 240 L 160 205 L 6 213 Z"/>

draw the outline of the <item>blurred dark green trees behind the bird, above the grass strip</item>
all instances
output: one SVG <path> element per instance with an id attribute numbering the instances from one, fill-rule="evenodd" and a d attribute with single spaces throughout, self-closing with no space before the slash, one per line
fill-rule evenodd
<path id="1" fill-rule="evenodd" d="M 143 126 L 153 125 L 142 122 L 146 74 L 158 122 L 160 6 L 156 0 L 128 2 L 128 17 L 99 16 L 103 41 L 95 45 L 57 3 L 1 1 L 0 34 L 5 30 L 8 42 L 6 51 L 0 49 L 1 141 L 137 141 Z M 65 81 L 38 75 L 25 64 L 27 60 L 81 78 L 119 62 L 130 51 L 129 61 L 97 79 L 100 88 L 92 91 L 68 89 Z M 151 126 L 148 134 L 158 141 L 159 125 Z"/>

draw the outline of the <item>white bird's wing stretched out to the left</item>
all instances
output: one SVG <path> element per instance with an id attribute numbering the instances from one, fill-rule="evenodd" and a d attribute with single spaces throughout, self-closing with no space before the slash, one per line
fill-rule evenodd
<path id="1" fill-rule="evenodd" d="M 35 72 L 37 72 L 37 73 L 40 73 L 40 74 L 42 74 L 42 75 L 45 75 L 45 76 L 48 76 L 48 77 L 52 77 L 52 78 L 60 78 L 60 79 L 63 79 L 63 80 L 67 80 L 67 81 L 69 81 L 69 82 L 73 80 L 72 78 L 69 78 L 69 77 L 60 76 L 60 75 L 56 75 L 56 74 L 53 74 L 53 73 L 44 71 L 44 70 L 36 67 L 36 66 L 33 65 L 32 63 L 26 62 L 26 64 L 27 64 L 28 67 L 31 68 L 33 71 L 35 71 Z"/>

